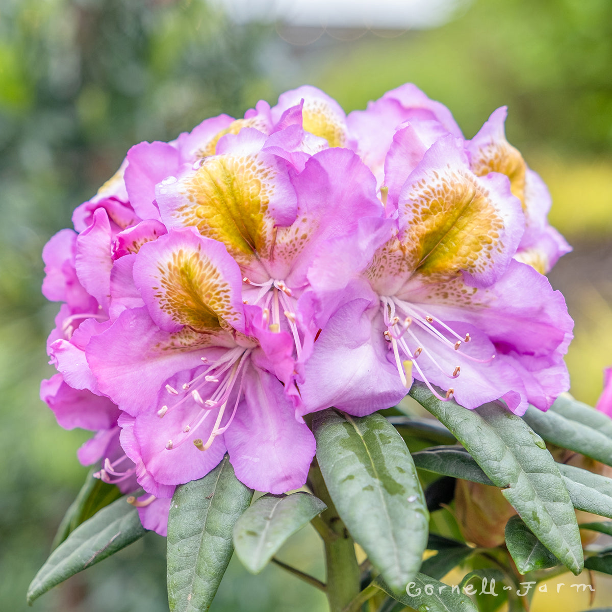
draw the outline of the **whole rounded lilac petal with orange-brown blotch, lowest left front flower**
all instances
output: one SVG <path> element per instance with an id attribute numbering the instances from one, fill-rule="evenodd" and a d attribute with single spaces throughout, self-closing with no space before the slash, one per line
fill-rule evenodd
<path id="1" fill-rule="evenodd" d="M 244 329 L 241 274 L 222 244 L 195 229 L 171 230 L 147 242 L 134 264 L 134 282 L 151 318 L 166 331 L 182 326 L 217 332 Z"/>

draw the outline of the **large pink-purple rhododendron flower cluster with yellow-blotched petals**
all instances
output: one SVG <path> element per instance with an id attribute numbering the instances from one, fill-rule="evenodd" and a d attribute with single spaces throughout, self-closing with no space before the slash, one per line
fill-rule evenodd
<path id="1" fill-rule="evenodd" d="M 271 493 L 305 483 L 304 416 L 400 401 L 546 410 L 572 321 L 543 276 L 569 250 L 504 136 L 466 140 L 407 84 L 348 116 L 305 86 L 244 118 L 132 147 L 43 252 L 63 302 L 41 395 L 165 534 L 174 489 L 229 454 Z"/>

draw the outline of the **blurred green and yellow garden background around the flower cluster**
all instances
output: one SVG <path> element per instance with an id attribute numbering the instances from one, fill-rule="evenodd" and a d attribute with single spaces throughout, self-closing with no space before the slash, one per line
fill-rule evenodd
<path id="1" fill-rule="evenodd" d="M 292 33 L 233 24 L 203 0 L 0 0 L 2 609 L 26 609 L 86 474 L 75 457 L 86 433 L 61 430 L 38 398 L 58 308 L 40 295 L 45 242 L 138 141 L 240 116 L 303 83 L 348 112 L 406 81 L 449 106 L 468 138 L 509 106 L 507 136 L 547 181 L 551 222 L 575 248 L 550 277 L 576 321 L 573 394 L 594 403 L 612 363 L 612 2 L 480 0 L 435 29 Z M 148 534 L 33 609 L 167 610 L 164 552 Z M 306 530 L 280 558 L 320 577 L 320 553 Z M 537 609 L 583 610 L 588 597 L 564 605 Z M 313 611 L 325 600 L 277 567 L 251 577 L 233 560 L 211 609 Z"/>

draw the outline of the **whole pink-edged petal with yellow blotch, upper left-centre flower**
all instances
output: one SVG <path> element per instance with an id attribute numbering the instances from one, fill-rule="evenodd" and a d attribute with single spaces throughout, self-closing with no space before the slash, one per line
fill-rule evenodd
<path id="1" fill-rule="evenodd" d="M 282 166 L 261 152 L 207 157 L 178 181 L 158 185 L 156 193 L 166 226 L 195 226 L 202 236 L 223 242 L 244 265 L 269 256 L 274 226 L 289 225 L 297 206 Z"/>

